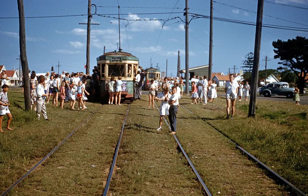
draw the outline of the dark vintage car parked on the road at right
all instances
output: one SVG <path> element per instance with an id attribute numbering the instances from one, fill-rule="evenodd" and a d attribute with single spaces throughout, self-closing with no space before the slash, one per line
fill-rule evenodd
<path id="1" fill-rule="evenodd" d="M 287 82 L 273 82 L 262 88 L 259 94 L 265 97 L 280 95 L 286 96 L 287 98 L 293 98 L 294 88 L 289 88 L 289 84 Z"/>

